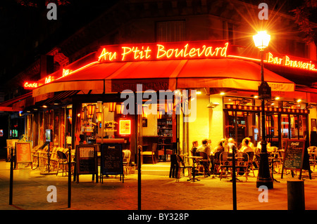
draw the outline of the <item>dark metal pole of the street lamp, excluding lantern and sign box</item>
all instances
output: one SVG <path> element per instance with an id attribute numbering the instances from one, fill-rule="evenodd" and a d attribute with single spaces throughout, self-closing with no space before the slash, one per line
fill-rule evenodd
<path id="1" fill-rule="evenodd" d="M 261 84 L 264 83 L 264 70 L 263 70 L 263 50 L 261 53 Z M 260 94 L 259 94 L 260 95 Z M 270 169 L 268 166 L 268 152 L 266 150 L 266 114 L 265 114 L 265 102 L 264 98 L 261 98 L 261 121 L 262 121 L 262 140 L 261 140 L 261 152 L 260 152 L 260 164 L 259 173 L 256 180 L 256 187 L 265 185 L 268 189 L 273 188 L 273 180 L 270 175 Z"/>

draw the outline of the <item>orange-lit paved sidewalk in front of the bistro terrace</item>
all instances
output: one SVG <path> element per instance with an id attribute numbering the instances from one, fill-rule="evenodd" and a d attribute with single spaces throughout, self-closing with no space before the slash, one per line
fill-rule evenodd
<path id="1" fill-rule="evenodd" d="M 304 176 L 306 210 L 317 210 L 317 171 L 312 180 Z M 92 182 L 91 175 L 80 176 L 80 183 L 72 181 L 71 207 L 68 208 L 68 177 L 61 173 L 42 176 L 29 167 L 13 174 L 13 206 L 9 202 L 10 163 L 0 161 L 0 210 L 137 210 L 137 174 L 104 178 L 104 183 Z M 168 176 L 142 175 L 142 210 L 232 210 L 232 183 L 230 178 L 198 177 L 200 181 L 180 182 Z M 287 210 L 287 180 L 298 180 L 280 174 L 274 178 L 273 189 L 268 190 L 268 202 L 259 202 L 256 177 L 249 174 L 247 182 L 237 182 L 237 210 Z M 73 180 L 73 178 L 72 178 Z M 57 202 L 47 202 L 47 187 L 56 186 Z"/>

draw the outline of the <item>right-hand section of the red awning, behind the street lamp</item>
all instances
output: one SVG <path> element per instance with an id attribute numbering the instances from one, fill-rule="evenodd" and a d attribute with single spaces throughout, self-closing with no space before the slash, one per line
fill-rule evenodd
<path id="1" fill-rule="evenodd" d="M 294 83 L 264 69 L 264 81 L 272 91 L 294 91 Z M 238 88 L 258 90 L 261 67 L 254 62 L 237 59 L 188 60 L 178 74 L 178 88 Z"/>

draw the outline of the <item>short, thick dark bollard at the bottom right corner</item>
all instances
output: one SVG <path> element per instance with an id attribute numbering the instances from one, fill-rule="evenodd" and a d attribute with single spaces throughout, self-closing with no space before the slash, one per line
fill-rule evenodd
<path id="1" fill-rule="evenodd" d="M 287 180 L 287 209 L 305 210 L 304 180 Z"/>

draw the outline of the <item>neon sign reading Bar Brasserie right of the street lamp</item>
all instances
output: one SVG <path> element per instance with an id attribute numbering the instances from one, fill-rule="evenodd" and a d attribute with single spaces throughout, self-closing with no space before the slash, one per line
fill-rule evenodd
<path id="1" fill-rule="evenodd" d="M 303 62 L 301 60 L 290 60 L 290 57 L 285 55 L 284 57 L 274 57 L 272 53 L 268 53 L 267 62 L 273 65 L 282 65 L 285 67 L 293 67 L 301 70 L 317 71 L 315 65 L 310 62 Z"/>

